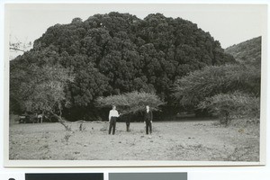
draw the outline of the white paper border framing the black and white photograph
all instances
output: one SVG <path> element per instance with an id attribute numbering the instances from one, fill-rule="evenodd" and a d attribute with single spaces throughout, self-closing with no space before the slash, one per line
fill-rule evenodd
<path id="1" fill-rule="evenodd" d="M 141 4 L 141 3 L 140 3 Z M 147 161 L 147 160 L 10 160 L 9 159 L 9 10 L 20 8 L 24 4 L 5 4 L 4 14 L 4 166 L 5 167 L 146 167 L 146 166 L 264 166 L 266 165 L 266 78 L 267 78 L 267 4 L 265 24 L 262 34 L 262 64 L 261 64 L 261 113 L 260 113 L 260 158 L 258 162 L 235 161 Z M 40 7 L 41 4 L 33 4 Z M 58 5 L 61 8 L 61 4 Z M 69 4 L 72 5 L 72 4 Z M 84 5 L 84 4 L 81 4 Z M 100 4 L 101 6 L 103 4 Z M 128 4 L 132 5 L 132 4 Z M 144 5 L 144 4 L 141 4 Z M 174 4 L 170 4 L 174 5 Z M 193 4 L 194 7 L 197 4 Z M 215 5 L 215 4 L 209 4 Z M 221 4 L 216 4 L 221 5 Z M 226 4 L 228 5 L 228 4 Z M 231 4 L 234 5 L 234 4 Z M 258 5 L 258 4 L 256 4 Z"/>

